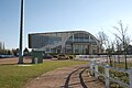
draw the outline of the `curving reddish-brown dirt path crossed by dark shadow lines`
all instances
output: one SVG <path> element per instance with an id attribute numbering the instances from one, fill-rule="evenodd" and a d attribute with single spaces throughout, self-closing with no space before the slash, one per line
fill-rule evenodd
<path id="1" fill-rule="evenodd" d="M 48 72 L 31 80 L 26 88 L 105 88 L 105 85 L 89 76 L 86 66 L 76 65 Z"/>

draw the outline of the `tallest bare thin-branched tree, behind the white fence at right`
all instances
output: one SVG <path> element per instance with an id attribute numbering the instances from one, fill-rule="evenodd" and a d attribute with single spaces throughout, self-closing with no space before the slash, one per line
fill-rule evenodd
<path id="1" fill-rule="evenodd" d="M 119 28 L 113 26 L 113 29 L 116 29 L 119 34 L 117 34 L 117 33 L 113 33 L 113 34 L 116 35 L 117 38 L 119 38 L 119 41 L 122 44 L 122 50 L 123 50 L 123 54 L 124 54 L 124 58 L 125 58 L 125 69 L 128 69 L 127 47 L 130 44 L 130 37 L 127 34 L 128 26 L 124 28 L 122 21 L 119 21 L 118 24 L 119 24 Z"/>

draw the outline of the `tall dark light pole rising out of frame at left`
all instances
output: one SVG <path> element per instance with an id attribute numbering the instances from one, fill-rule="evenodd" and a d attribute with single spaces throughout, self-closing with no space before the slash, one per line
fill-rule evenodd
<path id="1" fill-rule="evenodd" d="M 23 64 L 23 31 L 24 31 L 24 0 L 21 0 L 21 20 L 20 20 L 20 52 L 18 64 Z"/>

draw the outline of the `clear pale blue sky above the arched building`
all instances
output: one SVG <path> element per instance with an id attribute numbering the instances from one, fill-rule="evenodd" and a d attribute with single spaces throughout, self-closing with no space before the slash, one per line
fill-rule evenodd
<path id="1" fill-rule="evenodd" d="M 113 37 L 118 22 L 129 25 L 132 35 L 132 0 L 25 0 L 24 47 L 29 33 L 87 31 L 95 36 L 103 31 Z M 21 0 L 0 0 L 0 42 L 18 48 Z"/>

